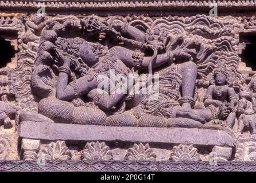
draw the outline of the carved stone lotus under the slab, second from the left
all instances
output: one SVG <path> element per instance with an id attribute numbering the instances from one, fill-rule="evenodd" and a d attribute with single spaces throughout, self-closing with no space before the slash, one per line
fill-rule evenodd
<path id="1" fill-rule="evenodd" d="M 107 161 L 112 160 L 113 156 L 105 142 L 97 141 L 86 144 L 84 150 L 82 150 L 82 158 L 88 161 Z"/>

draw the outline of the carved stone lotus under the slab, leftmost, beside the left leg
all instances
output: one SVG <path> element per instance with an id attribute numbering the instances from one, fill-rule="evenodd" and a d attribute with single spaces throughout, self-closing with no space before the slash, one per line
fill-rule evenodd
<path id="1" fill-rule="evenodd" d="M 45 156 L 45 160 L 70 160 L 71 152 L 64 141 L 57 141 L 42 145 L 38 157 L 43 156 Z"/>

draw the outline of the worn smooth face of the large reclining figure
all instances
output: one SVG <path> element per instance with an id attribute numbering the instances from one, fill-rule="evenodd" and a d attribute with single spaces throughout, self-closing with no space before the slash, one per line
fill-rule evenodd
<path id="1" fill-rule="evenodd" d="M 95 46 L 91 45 L 87 41 L 84 41 L 82 47 L 80 48 L 80 57 L 88 66 L 93 66 L 98 62 L 99 55 Z"/>

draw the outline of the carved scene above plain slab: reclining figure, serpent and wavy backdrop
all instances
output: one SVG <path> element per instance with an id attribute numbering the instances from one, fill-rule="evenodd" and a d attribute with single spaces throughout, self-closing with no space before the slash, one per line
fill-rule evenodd
<path id="1" fill-rule="evenodd" d="M 204 16 L 127 19 L 92 15 L 46 20 L 31 75 L 32 92 L 41 98 L 38 113 L 48 117 L 48 121 L 71 124 L 200 127 L 206 123 L 211 128 L 207 122 L 218 124 L 216 120 L 232 118 L 228 124 L 232 126 L 234 109 L 227 108 L 229 104 L 234 108 L 237 102 L 233 88 L 239 87 L 234 38 L 238 27 Z M 160 66 L 163 68 L 159 69 Z M 135 84 L 141 86 L 145 81 L 134 75 L 146 70 L 146 78 L 153 72 L 159 76 L 159 81 L 152 83 L 159 87 L 157 96 L 148 91 L 134 92 Z M 109 75 L 110 71 L 132 75 L 134 85 L 127 86 L 115 79 L 108 82 L 115 85 L 108 93 L 97 88 L 103 83 L 99 75 Z M 235 81 L 228 81 L 228 75 Z M 225 78 L 218 83 L 223 89 L 210 85 L 218 78 Z M 204 97 L 206 108 L 200 108 L 203 101 L 198 97 L 198 87 L 202 86 L 209 86 Z M 110 95 L 113 90 L 126 94 Z M 222 93 L 225 94 L 221 96 Z M 219 102 L 214 101 L 218 94 Z M 153 100 L 154 97 L 159 99 Z M 224 104 L 226 98 L 229 100 Z"/>

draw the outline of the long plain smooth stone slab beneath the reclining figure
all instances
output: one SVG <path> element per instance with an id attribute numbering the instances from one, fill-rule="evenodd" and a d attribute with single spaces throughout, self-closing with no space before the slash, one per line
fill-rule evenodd
<path id="1" fill-rule="evenodd" d="M 142 135 L 143 134 L 143 135 Z M 210 129 L 134 128 L 53 124 L 49 122 L 21 122 L 20 137 L 42 140 L 166 142 L 234 147 L 226 132 Z"/>

